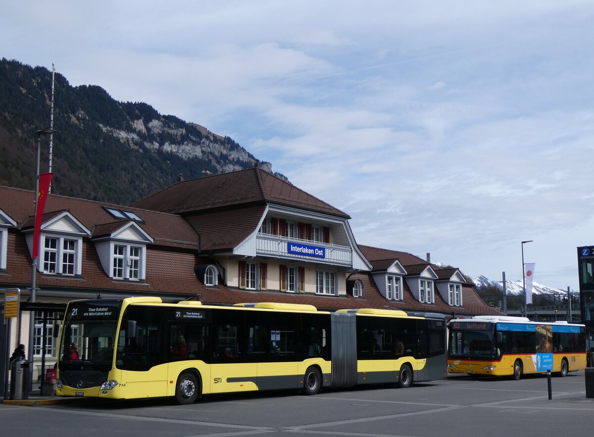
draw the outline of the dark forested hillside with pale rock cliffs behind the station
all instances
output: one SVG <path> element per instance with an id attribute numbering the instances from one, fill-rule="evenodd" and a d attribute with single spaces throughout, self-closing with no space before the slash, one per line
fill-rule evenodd
<path id="1" fill-rule="evenodd" d="M 0 61 L 0 184 L 33 189 L 36 131 L 49 128 L 52 73 Z M 52 192 L 129 204 L 165 186 L 252 167 L 235 141 L 161 115 L 147 103 L 117 102 L 103 88 L 72 87 L 55 75 Z M 48 171 L 42 137 L 40 171 Z M 262 163 L 270 171 L 270 164 Z M 282 175 L 280 175 L 282 176 Z"/>

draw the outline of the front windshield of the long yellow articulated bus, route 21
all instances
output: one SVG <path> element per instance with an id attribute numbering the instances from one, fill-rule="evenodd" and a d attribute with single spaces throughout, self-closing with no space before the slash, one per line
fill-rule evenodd
<path id="1" fill-rule="evenodd" d="M 113 363 L 121 301 L 80 300 L 68 304 L 58 364 L 61 384 L 89 388 L 106 380 Z"/>

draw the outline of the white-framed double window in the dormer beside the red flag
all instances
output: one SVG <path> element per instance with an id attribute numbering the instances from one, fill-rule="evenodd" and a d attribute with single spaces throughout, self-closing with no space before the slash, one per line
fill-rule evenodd
<path id="1" fill-rule="evenodd" d="M 82 239 L 81 238 L 72 238 L 70 236 L 61 236 L 61 235 L 52 235 L 52 234 L 43 234 L 42 233 L 42 241 L 40 241 L 40 259 L 42 260 L 39 263 L 39 271 L 43 272 L 44 274 L 49 275 L 63 275 L 63 276 L 76 276 L 81 274 L 81 266 L 80 266 L 80 251 L 82 248 Z M 48 242 L 50 241 L 56 242 L 56 247 L 47 247 Z M 72 243 L 73 248 L 65 248 L 66 243 Z M 48 258 L 53 255 L 53 260 L 49 260 Z M 69 258 L 71 256 L 71 260 Z M 72 261 L 72 262 L 70 262 Z M 53 264 L 54 271 L 50 271 L 48 264 Z M 68 273 L 68 266 L 72 266 L 72 273 Z"/>

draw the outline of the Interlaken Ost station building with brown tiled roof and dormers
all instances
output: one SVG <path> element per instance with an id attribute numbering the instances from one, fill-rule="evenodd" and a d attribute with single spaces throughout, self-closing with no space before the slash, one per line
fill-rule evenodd
<path id="1" fill-rule="evenodd" d="M 501 314 L 459 269 L 358 244 L 347 213 L 258 167 L 181 181 L 128 206 L 50 194 L 36 299 L 27 302 L 33 198 L 0 186 L 0 292 L 21 290 L 9 349 L 27 343 L 34 315 L 33 357 L 47 365 L 57 358 L 53 322 L 66 303 L 97 296 Z"/>

